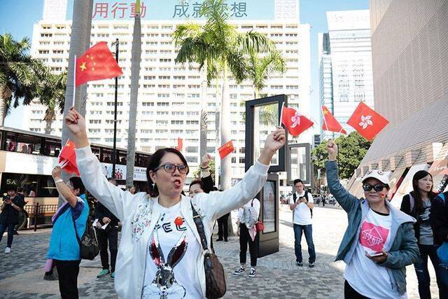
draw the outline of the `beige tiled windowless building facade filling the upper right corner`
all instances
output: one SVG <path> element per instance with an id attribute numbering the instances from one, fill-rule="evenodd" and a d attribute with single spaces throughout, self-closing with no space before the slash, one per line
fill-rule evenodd
<path id="1" fill-rule="evenodd" d="M 448 174 L 448 3 L 372 0 L 370 20 L 374 108 L 390 123 L 356 169 L 351 189 L 379 168 L 391 173 L 392 202 L 399 205 L 416 170 L 433 174 L 436 190 Z"/>

